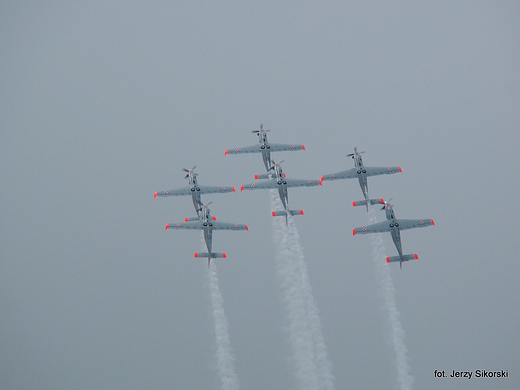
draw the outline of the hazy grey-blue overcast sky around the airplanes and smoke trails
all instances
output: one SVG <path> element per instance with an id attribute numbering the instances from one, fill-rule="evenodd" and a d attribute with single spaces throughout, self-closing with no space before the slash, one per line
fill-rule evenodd
<path id="1" fill-rule="evenodd" d="M 0 387 L 210 389 L 220 383 L 200 236 L 165 231 L 199 182 L 353 166 L 419 260 L 391 265 L 418 389 L 520 388 L 520 5 L 516 1 L 4 1 L 0 5 Z M 289 190 L 336 389 L 397 388 L 353 180 Z M 268 191 L 204 197 L 243 389 L 296 387 Z M 383 218 L 379 214 L 379 220 Z M 396 254 L 390 235 L 389 256 Z M 382 259 L 384 261 L 384 259 Z M 434 370 L 509 370 L 437 379 Z"/>

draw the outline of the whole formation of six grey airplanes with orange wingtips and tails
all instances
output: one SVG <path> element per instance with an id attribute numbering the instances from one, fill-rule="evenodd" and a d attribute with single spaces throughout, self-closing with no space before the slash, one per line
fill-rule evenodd
<path id="1" fill-rule="evenodd" d="M 253 130 L 252 133 L 258 135 L 258 144 L 252 146 L 245 146 L 236 149 L 226 149 L 225 155 L 241 154 L 241 153 L 261 153 L 262 161 L 264 163 L 266 173 L 255 175 L 256 182 L 250 184 L 242 184 L 241 191 L 244 190 L 258 190 L 258 189 L 277 189 L 280 200 L 283 205 L 283 210 L 275 210 L 272 212 L 273 217 L 285 216 L 286 223 L 289 215 L 303 215 L 303 210 L 291 210 L 289 207 L 289 187 L 312 187 L 322 185 L 324 181 L 338 180 L 338 179 L 355 179 L 359 181 L 364 200 L 352 202 L 353 206 L 366 206 L 367 212 L 369 205 L 382 204 L 381 210 L 386 212 L 386 221 L 378 222 L 372 225 L 367 225 L 359 228 L 354 228 L 353 234 L 368 234 L 368 233 L 383 233 L 389 232 L 397 249 L 397 256 L 390 256 L 386 258 L 388 263 L 399 262 L 402 269 L 403 262 L 418 259 L 417 254 L 403 254 L 401 244 L 401 230 L 414 229 L 419 227 L 435 225 L 432 219 L 397 219 L 395 218 L 393 206 L 385 202 L 383 199 L 370 199 L 368 194 L 368 180 L 369 176 L 388 175 L 402 172 L 401 167 L 365 167 L 362 153 L 358 152 L 357 147 L 354 148 L 354 153 L 347 154 L 347 157 L 352 157 L 354 160 L 354 168 L 322 175 L 318 180 L 305 179 L 288 179 L 283 172 L 281 162 L 275 163 L 271 159 L 271 152 L 280 151 L 297 151 L 305 150 L 305 146 L 297 144 L 273 144 L 269 143 L 267 139 L 267 132 L 263 125 L 260 125 L 260 130 Z M 215 194 L 235 192 L 233 186 L 206 186 L 199 185 L 197 182 L 197 173 L 195 173 L 194 166 L 191 170 L 183 168 L 186 172 L 185 178 L 188 179 L 188 186 L 166 191 L 156 191 L 154 197 L 191 195 L 193 206 L 197 212 L 197 217 L 186 218 L 184 222 L 168 223 L 166 230 L 169 229 L 193 229 L 202 230 L 204 232 L 204 241 L 206 243 L 207 252 L 196 252 L 195 257 L 208 258 L 208 267 L 211 259 L 226 258 L 225 253 L 218 253 L 212 251 L 213 230 L 249 230 L 245 224 L 217 222 L 214 216 L 211 216 L 211 211 L 208 204 L 203 204 L 202 194 Z M 211 203 L 211 202 L 210 202 Z"/>

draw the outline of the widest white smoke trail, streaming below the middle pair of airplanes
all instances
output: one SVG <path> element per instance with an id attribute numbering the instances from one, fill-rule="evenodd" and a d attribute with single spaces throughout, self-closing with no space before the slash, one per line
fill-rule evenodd
<path id="1" fill-rule="evenodd" d="M 277 191 L 271 191 L 271 209 L 280 210 Z M 283 301 L 289 312 L 289 334 L 296 378 L 300 389 L 333 389 L 332 364 L 321 333 L 319 312 L 314 302 L 298 230 L 289 216 L 273 218 L 276 266 Z"/>

